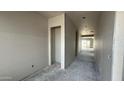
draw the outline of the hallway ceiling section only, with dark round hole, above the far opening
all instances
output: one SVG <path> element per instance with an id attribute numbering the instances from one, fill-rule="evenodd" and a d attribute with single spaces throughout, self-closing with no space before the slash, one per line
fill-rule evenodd
<path id="1" fill-rule="evenodd" d="M 99 14 L 100 12 L 96 11 L 75 11 L 67 13 L 81 35 L 95 33 Z M 83 17 L 85 17 L 85 19 L 83 19 Z"/>

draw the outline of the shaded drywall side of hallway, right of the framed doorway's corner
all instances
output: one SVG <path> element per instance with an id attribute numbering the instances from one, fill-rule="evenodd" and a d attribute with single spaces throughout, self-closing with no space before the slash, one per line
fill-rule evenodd
<path id="1" fill-rule="evenodd" d="M 76 28 L 67 15 L 65 24 L 65 67 L 67 67 L 75 59 Z"/>

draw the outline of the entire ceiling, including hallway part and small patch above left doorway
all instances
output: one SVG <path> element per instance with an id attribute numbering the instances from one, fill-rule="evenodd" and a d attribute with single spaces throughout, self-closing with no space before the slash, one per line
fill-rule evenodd
<path id="1" fill-rule="evenodd" d="M 98 11 L 41 11 L 39 13 L 46 18 L 55 17 L 62 13 L 66 13 L 77 29 L 80 30 L 82 35 L 94 34 L 100 14 Z M 85 17 L 85 19 L 82 17 Z"/>

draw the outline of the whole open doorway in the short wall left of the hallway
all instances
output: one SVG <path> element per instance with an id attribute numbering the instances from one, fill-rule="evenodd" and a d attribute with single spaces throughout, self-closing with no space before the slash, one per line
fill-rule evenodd
<path id="1" fill-rule="evenodd" d="M 61 26 L 51 28 L 51 65 L 61 65 Z"/>

